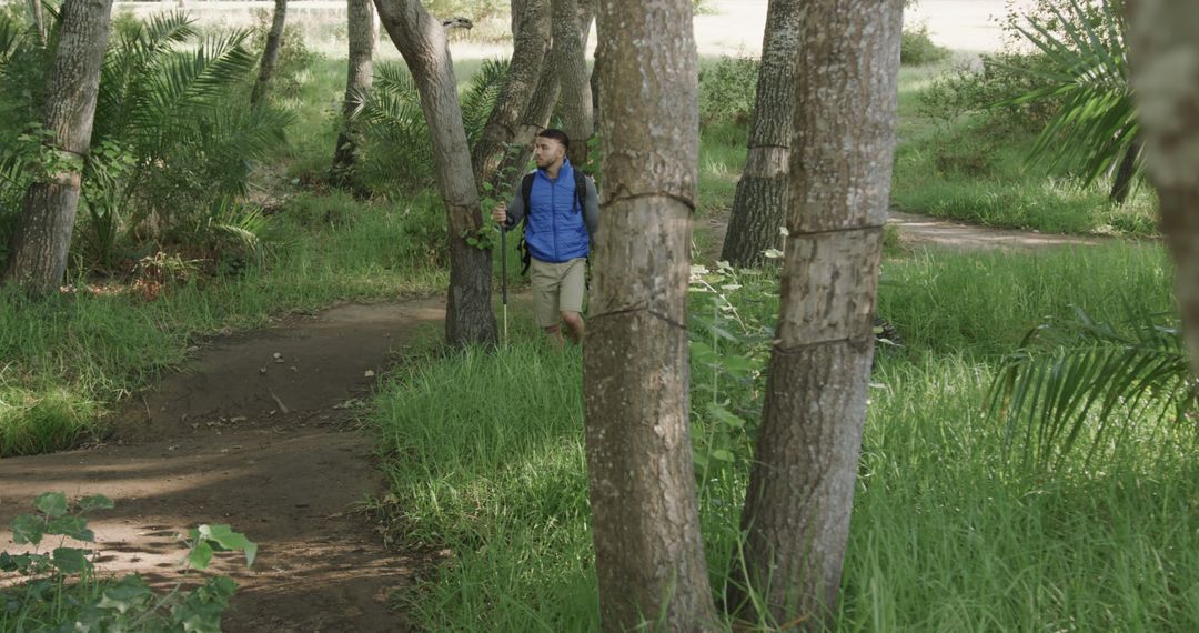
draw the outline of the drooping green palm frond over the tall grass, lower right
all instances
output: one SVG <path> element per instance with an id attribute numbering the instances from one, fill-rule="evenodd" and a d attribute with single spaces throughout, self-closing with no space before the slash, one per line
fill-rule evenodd
<path id="1" fill-rule="evenodd" d="M 1060 469 L 1086 444 L 1084 464 L 1103 446 L 1165 421 L 1194 422 L 1199 385 L 1181 332 L 1161 316 L 1135 315 L 1125 331 L 1078 311 L 1073 322 L 1030 332 L 988 394 L 1005 424 L 1005 448 L 1025 465 Z M 1053 343 L 1046 350 L 1042 343 Z M 1113 434 L 1116 438 L 1113 438 Z"/>

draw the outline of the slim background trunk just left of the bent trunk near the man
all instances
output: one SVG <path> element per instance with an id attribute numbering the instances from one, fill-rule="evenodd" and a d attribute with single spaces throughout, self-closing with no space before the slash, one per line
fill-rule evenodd
<path id="1" fill-rule="evenodd" d="M 330 180 L 337 187 L 354 183 L 359 134 L 353 119 L 362 106 L 360 95 L 366 95 L 374 82 L 374 6 L 370 0 L 348 0 L 347 5 L 350 56 L 345 74 L 345 100 L 342 102 L 342 131 L 337 134 L 333 167 L 330 170 Z"/>

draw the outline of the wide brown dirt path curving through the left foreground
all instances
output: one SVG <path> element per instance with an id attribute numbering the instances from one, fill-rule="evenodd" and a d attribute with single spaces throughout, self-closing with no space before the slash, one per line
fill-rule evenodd
<path id="1" fill-rule="evenodd" d="M 388 355 L 444 315 L 440 300 L 348 305 L 204 345 L 121 416 L 120 442 L 0 460 L 0 548 L 37 494 L 104 494 L 116 508 L 91 526 L 108 572 L 174 585 L 174 535 L 199 523 L 259 544 L 252 569 L 215 565 L 239 584 L 227 631 L 406 629 L 386 597 L 415 561 L 354 512 L 385 482 L 353 421 Z"/>

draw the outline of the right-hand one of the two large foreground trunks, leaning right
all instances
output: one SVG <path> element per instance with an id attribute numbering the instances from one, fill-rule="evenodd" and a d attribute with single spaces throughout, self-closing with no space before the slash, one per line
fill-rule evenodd
<path id="1" fill-rule="evenodd" d="M 821 631 L 866 421 L 903 0 L 805 5 L 781 313 L 729 605 Z M 761 599 L 746 601 L 746 585 Z"/>

